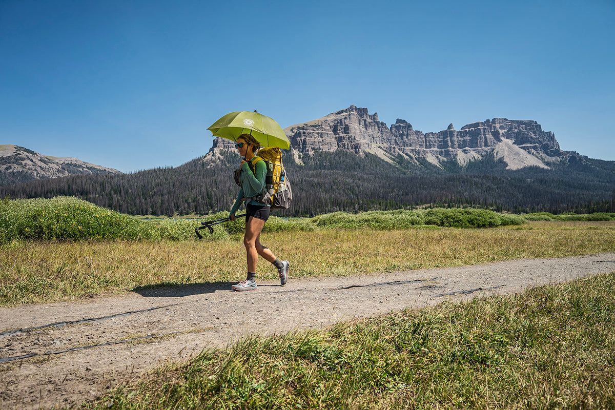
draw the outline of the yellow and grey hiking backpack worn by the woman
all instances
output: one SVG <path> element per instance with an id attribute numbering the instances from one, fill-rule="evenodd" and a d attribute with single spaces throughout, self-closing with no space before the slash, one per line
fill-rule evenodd
<path id="1" fill-rule="evenodd" d="M 255 175 L 254 164 L 261 160 L 267 165 L 265 186 L 263 187 L 263 192 L 252 199 L 256 202 L 271 205 L 271 209 L 288 209 L 290 202 L 293 200 L 293 192 L 284 169 L 284 164 L 282 164 L 282 149 L 277 147 L 261 148 L 258 151 L 258 156 L 254 157 L 252 161 L 248 161 L 248 167 L 250 167 L 250 170 Z M 239 186 L 241 186 L 239 180 L 240 172 L 241 170 L 235 170 L 235 182 Z"/>

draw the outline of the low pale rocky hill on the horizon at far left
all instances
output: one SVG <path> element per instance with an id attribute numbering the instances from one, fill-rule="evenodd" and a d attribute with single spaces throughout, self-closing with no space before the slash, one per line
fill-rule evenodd
<path id="1" fill-rule="evenodd" d="M 74 174 L 121 173 L 76 158 L 43 156 L 17 145 L 0 145 L 0 186 Z"/>

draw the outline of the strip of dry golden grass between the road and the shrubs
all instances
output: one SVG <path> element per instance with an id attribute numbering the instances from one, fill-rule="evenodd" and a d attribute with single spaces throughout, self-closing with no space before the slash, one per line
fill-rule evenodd
<path id="1" fill-rule="evenodd" d="M 322 230 L 262 234 L 293 277 L 462 266 L 615 250 L 615 222 L 534 222 L 490 229 Z M 124 293 L 139 286 L 236 282 L 245 251 L 232 240 L 23 242 L 0 248 L 0 305 Z M 260 259 L 260 278 L 277 277 Z"/>

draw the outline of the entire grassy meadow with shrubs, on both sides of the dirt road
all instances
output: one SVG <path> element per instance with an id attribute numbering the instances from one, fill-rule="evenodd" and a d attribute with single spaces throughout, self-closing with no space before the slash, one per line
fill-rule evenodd
<path id="1" fill-rule="evenodd" d="M 245 274 L 243 221 L 202 230 L 197 240 L 198 218 L 145 222 L 74 198 L 3 200 L 0 211 L 0 306 Z M 272 218 L 261 239 L 293 261 L 294 278 L 361 275 L 615 251 L 614 217 L 332 213 Z M 259 269 L 259 277 L 271 275 Z M 250 337 L 155 369 L 82 408 L 615 408 L 614 321 L 611 272 Z"/>

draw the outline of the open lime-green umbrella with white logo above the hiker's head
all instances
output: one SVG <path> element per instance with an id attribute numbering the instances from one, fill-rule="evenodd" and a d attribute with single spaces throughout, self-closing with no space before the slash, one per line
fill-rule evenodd
<path id="1" fill-rule="evenodd" d="M 245 133 L 256 138 L 263 147 L 290 149 L 290 142 L 280 124 L 256 111 L 229 112 L 207 129 L 213 136 L 221 136 L 235 142 L 237 137 Z"/>

